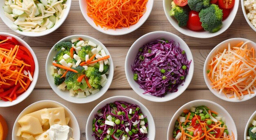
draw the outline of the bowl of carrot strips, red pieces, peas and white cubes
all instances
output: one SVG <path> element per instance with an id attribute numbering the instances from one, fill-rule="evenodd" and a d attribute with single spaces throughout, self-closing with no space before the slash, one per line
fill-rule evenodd
<path id="1" fill-rule="evenodd" d="M 219 104 L 194 100 L 176 111 L 168 126 L 167 140 L 237 140 L 236 124 Z"/>

